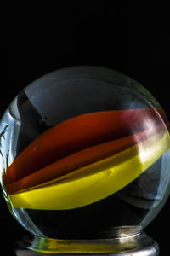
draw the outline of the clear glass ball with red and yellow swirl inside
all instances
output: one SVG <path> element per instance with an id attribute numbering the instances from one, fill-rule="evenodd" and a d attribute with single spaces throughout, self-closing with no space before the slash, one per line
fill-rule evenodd
<path id="1" fill-rule="evenodd" d="M 99 239 L 144 228 L 170 192 L 169 122 L 138 82 L 66 67 L 29 84 L 1 119 L 3 195 L 34 236 Z"/>

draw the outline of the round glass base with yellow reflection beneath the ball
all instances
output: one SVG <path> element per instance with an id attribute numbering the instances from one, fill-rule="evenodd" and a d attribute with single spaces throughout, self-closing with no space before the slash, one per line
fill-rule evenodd
<path id="1" fill-rule="evenodd" d="M 156 256 L 159 247 L 144 232 L 132 236 L 97 240 L 57 240 L 26 236 L 18 242 L 17 256 L 40 256 L 60 254 L 111 254 L 115 256 Z"/>

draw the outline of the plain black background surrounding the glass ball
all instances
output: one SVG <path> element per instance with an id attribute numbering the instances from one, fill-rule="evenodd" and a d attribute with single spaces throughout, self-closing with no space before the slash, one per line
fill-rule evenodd
<path id="1" fill-rule="evenodd" d="M 111 2 L 8 3 L 3 22 L 6 79 L 1 85 L 1 116 L 31 81 L 75 65 L 111 67 L 127 74 L 150 90 L 170 116 L 167 6 L 161 1 Z M 26 231 L 1 197 L 1 239 L 8 241 L 7 255 L 12 256 L 14 241 Z M 169 247 L 169 216 L 170 199 L 145 229 L 159 243 L 163 256 Z"/>

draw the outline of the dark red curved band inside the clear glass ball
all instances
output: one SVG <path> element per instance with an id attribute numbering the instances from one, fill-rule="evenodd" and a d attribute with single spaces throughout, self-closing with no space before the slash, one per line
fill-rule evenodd
<path id="1" fill-rule="evenodd" d="M 162 129 L 162 119 L 167 122 L 162 110 L 145 108 L 86 113 L 65 120 L 21 152 L 4 173 L 3 183 L 14 193 L 72 172 L 138 143 L 148 131 L 155 133 L 156 126 Z"/>

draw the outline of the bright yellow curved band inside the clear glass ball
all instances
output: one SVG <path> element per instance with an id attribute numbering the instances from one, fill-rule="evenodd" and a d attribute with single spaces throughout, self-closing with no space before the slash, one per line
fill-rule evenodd
<path id="1" fill-rule="evenodd" d="M 42 187 L 8 195 L 13 207 L 66 210 L 87 206 L 131 183 L 170 148 L 166 130 L 105 160 L 84 166 L 71 176 Z"/>

